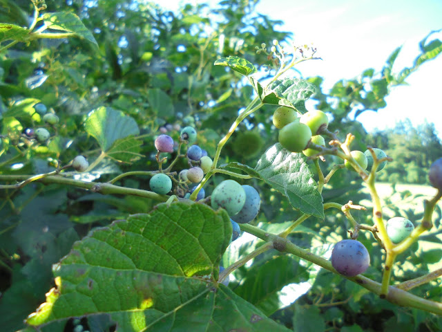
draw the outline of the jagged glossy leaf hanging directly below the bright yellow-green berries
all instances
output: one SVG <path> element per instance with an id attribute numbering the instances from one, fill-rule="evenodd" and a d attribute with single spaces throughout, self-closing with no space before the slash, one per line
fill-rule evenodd
<path id="1" fill-rule="evenodd" d="M 291 153 L 276 143 L 265 151 L 255 169 L 268 185 L 287 196 L 294 208 L 324 218 L 323 199 L 306 156 Z"/>

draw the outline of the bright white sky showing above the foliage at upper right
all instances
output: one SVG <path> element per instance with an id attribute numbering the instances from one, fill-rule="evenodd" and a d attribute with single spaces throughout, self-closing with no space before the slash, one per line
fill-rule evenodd
<path id="1" fill-rule="evenodd" d="M 180 3 L 218 1 L 167 0 L 161 6 L 176 10 Z M 441 0 L 261 0 L 256 11 L 285 22 L 278 30 L 294 33 L 297 45 L 313 44 L 323 60 L 297 66 L 304 77 L 322 76 L 323 88 L 340 79 L 352 79 L 366 68 L 380 71 L 387 57 L 403 46 L 393 72 L 412 66 L 419 55 L 419 42 L 430 31 L 442 29 Z M 442 32 L 434 34 L 442 39 Z M 271 41 L 262 41 L 270 44 Z M 414 125 L 434 122 L 442 138 L 442 55 L 423 64 L 396 86 L 387 97 L 387 107 L 367 111 L 358 120 L 367 131 L 394 127 L 410 118 Z"/>

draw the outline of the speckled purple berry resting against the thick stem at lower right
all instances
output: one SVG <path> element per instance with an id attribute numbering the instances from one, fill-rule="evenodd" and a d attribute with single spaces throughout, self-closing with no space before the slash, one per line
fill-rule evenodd
<path id="1" fill-rule="evenodd" d="M 356 240 L 343 240 L 336 243 L 332 251 L 332 266 L 347 277 L 364 273 L 370 265 L 367 248 Z"/>

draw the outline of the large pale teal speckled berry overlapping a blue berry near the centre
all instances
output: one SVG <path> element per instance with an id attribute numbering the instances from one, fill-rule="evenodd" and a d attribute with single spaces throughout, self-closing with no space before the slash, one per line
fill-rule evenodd
<path id="1" fill-rule="evenodd" d="M 229 216 L 234 216 L 241 211 L 246 201 L 244 188 L 236 181 L 224 180 L 212 192 L 212 208 L 223 208 Z"/>

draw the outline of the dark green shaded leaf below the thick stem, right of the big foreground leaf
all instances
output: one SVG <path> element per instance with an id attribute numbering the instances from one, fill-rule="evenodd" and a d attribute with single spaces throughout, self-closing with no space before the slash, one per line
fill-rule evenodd
<path id="1" fill-rule="evenodd" d="M 252 266 L 240 286 L 235 288 L 235 293 L 266 315 L 271 315 L 283 307 L 278 301 L 278 292 L 282 287 L 308 279 L 307 268 L 300 266 L 298 259 L 282 255 L 260 266 Z"/>

